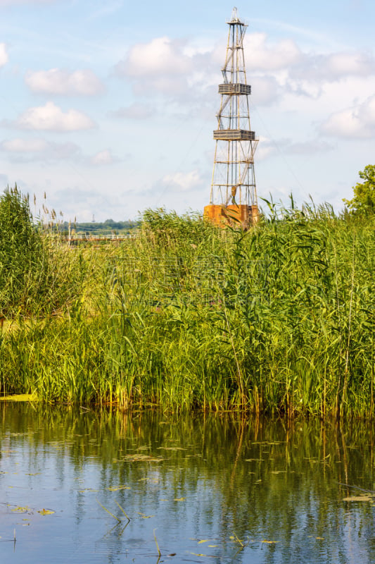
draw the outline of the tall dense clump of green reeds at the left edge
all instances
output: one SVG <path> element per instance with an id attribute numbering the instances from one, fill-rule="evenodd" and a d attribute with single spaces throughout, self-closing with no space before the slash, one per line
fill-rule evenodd
<path id="1" fill-rule="evenodd" d="M 0 195 L 0 319 L 45 315 L 81 292 L 84 264 L 34 223 L 28 196 Z"/>

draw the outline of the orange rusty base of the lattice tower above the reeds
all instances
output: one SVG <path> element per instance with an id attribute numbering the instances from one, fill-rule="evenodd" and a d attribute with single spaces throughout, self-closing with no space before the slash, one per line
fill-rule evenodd
<path id="1" fill-rule="evenodd" d="M 258 206 L 246 206 L 244 204 L 231 204 L 229 206 L 210 204 L 205 206 L 203 217 L 217 226 L 230 225 L 248 229 L 250 225 L 258 223 L 259 209 Z"/>

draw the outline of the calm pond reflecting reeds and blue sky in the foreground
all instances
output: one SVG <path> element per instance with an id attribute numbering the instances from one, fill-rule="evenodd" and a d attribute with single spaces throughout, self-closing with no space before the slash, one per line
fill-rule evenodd
<path id="1" fill-rule="evenodd" d="M 372 424 L 32 403 L 0 416 L 6 563 L 375 562 Z"/>

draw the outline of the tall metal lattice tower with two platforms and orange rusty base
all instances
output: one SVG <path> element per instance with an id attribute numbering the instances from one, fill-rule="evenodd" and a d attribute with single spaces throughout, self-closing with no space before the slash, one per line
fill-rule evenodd
<path id="1" fill-rule="evenodd" d="M 204 215 L 214 223 L 234 223 L 248 227 L 258 221 L 254 153 L 258 139 L 250 128 L 249 96 L 246 83 L 243 37 L 247 25 L 233 9 L 229 25 L 227 54 L 222 68 L 223 83 L 217 114 L 215 158 L 210 205 Z"/>

